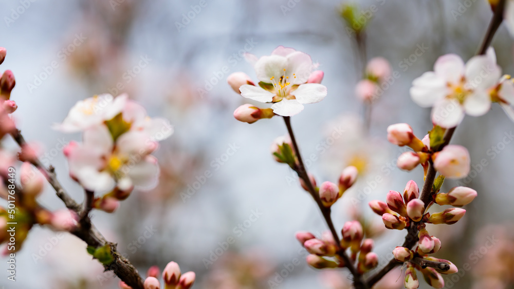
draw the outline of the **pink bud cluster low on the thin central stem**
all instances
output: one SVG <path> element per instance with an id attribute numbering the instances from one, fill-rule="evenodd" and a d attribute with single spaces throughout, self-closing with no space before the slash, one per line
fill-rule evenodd
<path id="1" fill-rule="evenodd" d="M 338 245 L 330 232 L 324 232 L 321 239 L 317 239 L 311 233 L 298 232 L 296 238 L 310 255 L 307 256 L 309 266 L 323 268 L 345 267 L 344 260 L 340 257 L 340 249 L 350 249 L 351 261 L 357 262 L 359 273 L 365 273 L 378 265 L 377 254 L 373 250 L 373 240 L 363 239 L 364 232 L 358 221 L 346 222 L 342 229 L 342 240 Z"/>

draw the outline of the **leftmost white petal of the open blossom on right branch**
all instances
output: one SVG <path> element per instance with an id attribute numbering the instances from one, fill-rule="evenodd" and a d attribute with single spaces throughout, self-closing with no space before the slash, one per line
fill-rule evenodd
<path id="1" fill-rule="evenodd" d="M 423 75 L 412 82 L 410 93 L 412 100 L 417 105 L 430 107 L 448 94 L 448 87 L 443 78 L 429 71 L 423 73 Z"/>

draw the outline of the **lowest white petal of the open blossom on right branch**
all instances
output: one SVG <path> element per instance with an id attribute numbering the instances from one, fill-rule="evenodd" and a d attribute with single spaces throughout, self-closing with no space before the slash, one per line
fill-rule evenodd
<path id="1" fill-rule="evenodd" d="M 452 99 L 443 99 L 435 103 L 432 109 L 432 122 L 444 128 L 451 128 L 461 123 L 464 109 Z"/>

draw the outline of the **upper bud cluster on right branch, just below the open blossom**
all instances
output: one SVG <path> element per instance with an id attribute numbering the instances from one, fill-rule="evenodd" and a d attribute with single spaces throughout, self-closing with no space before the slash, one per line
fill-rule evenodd
<path id="1" fill-rule="evenodd" d="M 470 157 L 465 147 L 447 145 L 442 150 L 437 150 L 443 144 L 445 129 L 434 126 L 423 140 L 414 136 L 412 127 L 406 123 L 390 125 L 387 132 L 389 142 L 398 146 L 409 146 L 414 150 L 400 155 L 397 161 L 399 168 L 412 170 L 421 164 L 426 171 L 428 163 L 432 162 L 434 168 L 446 178 L 460 179 L 469 174 Z"/>

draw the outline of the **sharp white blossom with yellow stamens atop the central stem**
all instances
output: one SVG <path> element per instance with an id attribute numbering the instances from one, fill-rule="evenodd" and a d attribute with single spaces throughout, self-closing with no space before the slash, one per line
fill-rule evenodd
<path id="1" fill-rule="evenodd" d="M 255 56 L 247 55 L 255 60 Z M 326 87 L 318 83 L 307 83 L 315 65 L 310 56 L 292 48 L 279 46 L 271 55 L 255 61 L 254 69 L 260 83 L 240 87 L 241 95 L 247 99 L 273 103 L 273 112 L 284 117 L 298 114 L 304 104 L 323 100 Z"/>

